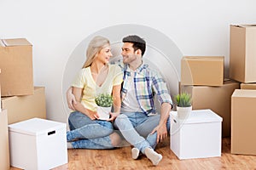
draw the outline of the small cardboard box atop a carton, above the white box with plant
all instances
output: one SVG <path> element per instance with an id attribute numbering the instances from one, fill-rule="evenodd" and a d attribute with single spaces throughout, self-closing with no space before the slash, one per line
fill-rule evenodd
<path id="1" fill-rule="evenodd" d="M 222 86 L 224 57 L 185 56 L 181 60 L 181 84 Z"/>

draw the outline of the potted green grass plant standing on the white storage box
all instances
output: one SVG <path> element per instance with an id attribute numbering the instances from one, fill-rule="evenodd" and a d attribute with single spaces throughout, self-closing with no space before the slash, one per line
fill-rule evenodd
<path id="1" fill-rule="evenodd" d="M 175 96 L 176 105 L 177 105 L 177 117 L 179 119 L 186 119 L 189 117 L 190 112 L 192 111 L 192 99 L 191 95 L 183 92 Z"/>

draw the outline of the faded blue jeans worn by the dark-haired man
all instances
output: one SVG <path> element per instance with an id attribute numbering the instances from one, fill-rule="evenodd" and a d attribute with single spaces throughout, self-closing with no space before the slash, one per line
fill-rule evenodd
<path id="1" fill-rule="evenodd" d="M 115 122 L 117 127 L 123 134 L 124 138 L 145 154 L 145 149 L 155 148 L 157 133 L 150 134 L 154 127 L 160 122 L 160 115 L 146 116 L 142 112 L 122 113 Z M 166 122 L 167 132 L 170 132 L 170 117 Z"/>

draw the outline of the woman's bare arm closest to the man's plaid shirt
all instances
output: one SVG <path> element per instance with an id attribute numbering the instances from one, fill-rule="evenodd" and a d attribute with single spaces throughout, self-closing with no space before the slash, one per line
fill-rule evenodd
<path id="1" fill-rule="evenodd" d="M 110 113 L 111 117 L 108 121 L 113 121 L 120 114 L 121 109 L 121 97 L 120 97 L 121 85 L 113 86 L 113 113 Z"/>

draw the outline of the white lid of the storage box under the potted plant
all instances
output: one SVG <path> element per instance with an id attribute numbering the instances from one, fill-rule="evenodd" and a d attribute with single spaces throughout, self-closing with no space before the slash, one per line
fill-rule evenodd
<path id="1" fill-rule="evenodd" d="M 172 111 L 172 116 L 177 117 L 177 111 Z M 204 123 L 204 122 L 222 122 L 222 117 L 218 116 L 210 109 L 191 111 L 188 119 L 183 120 L 184 124 Z"/>

